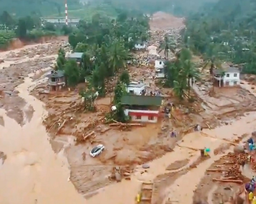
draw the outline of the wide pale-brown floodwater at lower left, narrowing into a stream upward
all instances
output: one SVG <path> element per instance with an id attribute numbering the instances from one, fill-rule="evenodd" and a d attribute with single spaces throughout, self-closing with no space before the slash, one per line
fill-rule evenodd
<path id="1" fill-rule="evenodd" d="M 33 106 L 31 122 L 21 127 L 1 111 L 5 122 L 0 126 L 0 149 L 7 159 L 0 167 L 1 203 L 56 204 L 84 203 L 71 182 L 64 155 L 51 149 L 44 126 L 44 104 L 29 95 L 31 79 L 19 85 L 21 98 Z"/>

